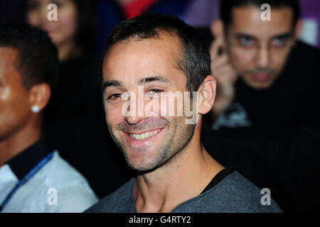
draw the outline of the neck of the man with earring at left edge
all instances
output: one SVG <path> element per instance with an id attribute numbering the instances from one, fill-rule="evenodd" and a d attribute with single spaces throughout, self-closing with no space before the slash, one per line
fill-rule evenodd
<path id="1" fill-rule="evenodd" d="M 41 138 L 41 126 L 26 126 L 0 140 L 0 167 Z"/>

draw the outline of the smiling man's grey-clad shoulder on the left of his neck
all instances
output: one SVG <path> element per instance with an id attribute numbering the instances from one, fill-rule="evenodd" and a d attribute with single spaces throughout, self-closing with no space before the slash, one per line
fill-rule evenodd
<path id="1" fill-rule="evenodd" d="M 87 209 L 86 213 L 130 213 L 135 212 L 132 190 L 136 178 L 130 179 L 112 194 L 101 199 L 97 204 Z"/>

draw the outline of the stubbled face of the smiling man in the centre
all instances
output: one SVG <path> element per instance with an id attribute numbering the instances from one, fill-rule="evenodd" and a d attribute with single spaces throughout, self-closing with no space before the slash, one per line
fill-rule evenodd
<path id="1" fill-rule="evenodd" d="M 138 85 L 152 100 L 156 94 L 186 92 L 186 75 L 178 70 L 178 39 L 165 33 L 159 38 L 116 43 L 105 56 L 103 82 L 105 115 L 114 141 L 124 152 L 127 163 L 138 171 L 154 170 L 164 165 L 185 147 L 193 136 L 194 125 L 184 116 L 163 116 L 168 106 L 151 109 L 155 116 L 124 116 L 124 92 L 138 96 Z M 132 96 L 130 96 L 132 99 Z M 132 100 L 131 100 L 132 101 Z M 149 104 L 132 101 L 138 109 Z M 139 105 L 139 106 L 138 106 Z M 130 106 L 130 109 L 132 106 Z M 136 112 L 136 113 L 137 113 Z"/>

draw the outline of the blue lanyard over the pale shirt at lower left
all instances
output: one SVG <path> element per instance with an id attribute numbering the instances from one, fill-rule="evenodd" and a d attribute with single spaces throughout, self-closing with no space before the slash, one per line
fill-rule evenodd
<path id="1" fill-rule="evenodd" d="M 23 184 L 25 184 L 33 175 L 36 174 L 36 172 L 38 172 L 44 165 L 47 164 L 47 162 L 53 157 L 53 153 L 50 153 L 49 155 L 47 155 L 45 158 L 43 158 L 43 160 L 41 160 L 40 162 L 38 162 L 38 164 L 32 168 L 32 170 L 30 170 L 30 172 L 28 172 L 26 174 L 26 176 L 24 176 L 14 187 L 14 189 L 11 190 L 11 192 L 8 194 L 8 196 L 6 196 L 6 199 L 4 199 L 4 201 L 2 202 L 1 206 L 0 206 L 0 212 L 4 210 L 4 206 L 6 206 L 6 204 L 8 204 L 8 202 L 10 201 L 10 199 L 12 198 L 12 196 L 14 195 L 14 193 L 16 192 L 16 190 L 18 190 L 19 187 L 21 187 Z"/>

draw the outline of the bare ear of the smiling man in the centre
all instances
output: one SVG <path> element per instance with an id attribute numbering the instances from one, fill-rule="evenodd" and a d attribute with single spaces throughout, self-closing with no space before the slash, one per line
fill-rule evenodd
<path id="1" fill-rule="evenodd" d="M 199 114 L 207 114 L 212 109 L 213 103 L 215 101 L 216 84 L 217 83 L 215 82 L 215 78 L 212 75 L 208 75 L 199 87 Z"/>

